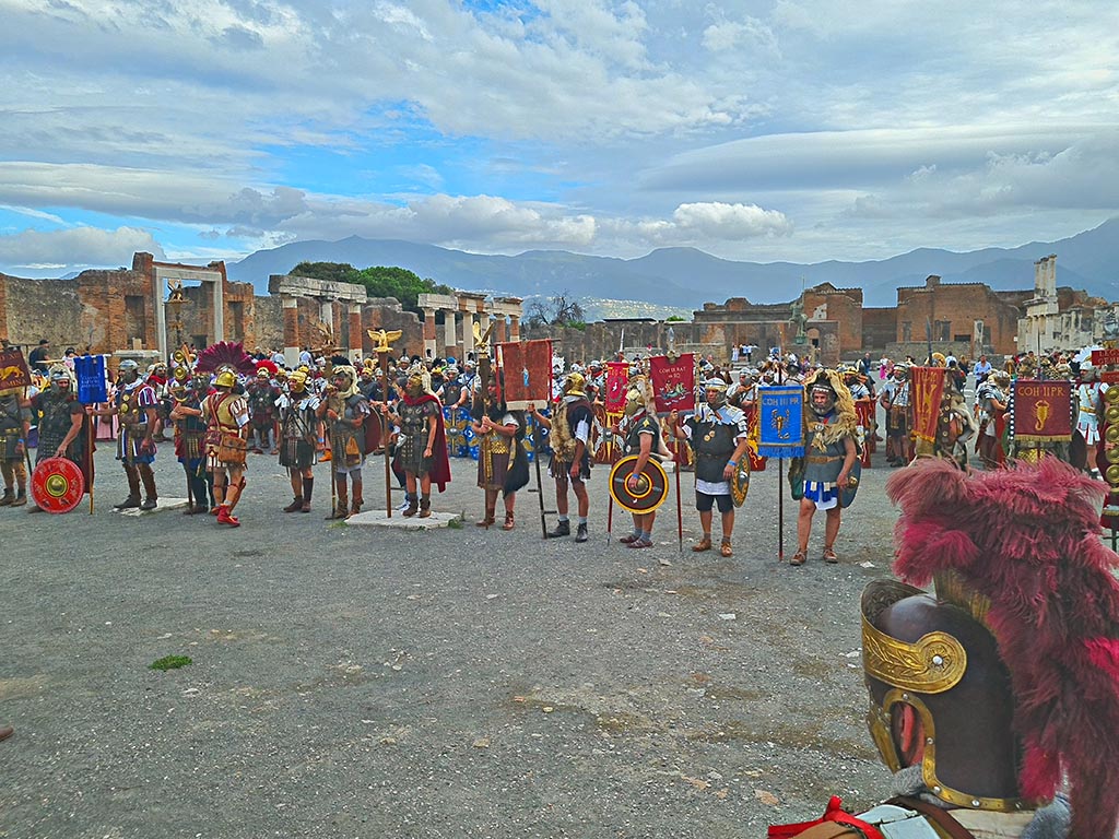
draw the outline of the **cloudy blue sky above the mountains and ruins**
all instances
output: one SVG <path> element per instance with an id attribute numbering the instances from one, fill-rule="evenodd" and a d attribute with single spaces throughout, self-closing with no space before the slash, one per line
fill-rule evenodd
<path id="1" fill-rule="evenodd" d="M 0 272 L 878 260 L 1119 215 L 1119 3 L 0 0 Z"/>

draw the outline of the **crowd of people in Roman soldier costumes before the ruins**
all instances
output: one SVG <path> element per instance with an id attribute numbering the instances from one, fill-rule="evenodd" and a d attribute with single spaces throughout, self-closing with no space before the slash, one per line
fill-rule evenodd
<path id="1" fill-rule="evenodd" d="M 46 347 L 40 345 L 36 351 L 40 349 Z M 282 508 L 284 512 L 311 511 L 313 466 L 329 461 L 333 502 L 328 518 L 346 518 L 366 505 L 366 458 L 387 446 L 404 491 L 398 507 L 404 516 L 430 516 L 432 484 L 442 489 L 450 480 L 449 458 L 472 456 L 482 490 L 478 525 L 498 525 L 500 498 L 500 527 L 510 530 L 516 525 L 516 493 L 528 481 L 527 460 L 535 454 L 530 437 L 536 426 L 547 435 L 548 473 L 555 482 L 558 521 L 547 532 L 549 537 L 574 532 L 576 541 L 586 541 L 592 466 L 632 454 L 633 487 L 650 459 L 675 460 L 678 468 L 694 470 L 702 536 L 693 549 L 717 546 L 727 557 L 733 555 L 735 472 L 765 468 L 765 459 L 758 454 L 759 390 L 799 383 L 806 393 L 809 451 L 793 470 L 797 481 L 803 481 L 793 488 L 800 505 L 793 565 L 806 562 L 816 510 L 826 511 L 821 557 L 828 563 L 838 560 L 838 497 L 848 484 L 854 486 L 856 461 L 872 465 L 871 454 L 878 443 L 885 443 L 891 466 L 918 456 L 944 456 L 967 468 L 974 452 L 984 465 L 997 468 L 1008 456 L 1006 411 L 1012 375 L 1041 373 L 1060 378 L 1079 373 L 1082 464 L 1091 470 L 1106 392 L 1091 364 L 1083 358 L 1072 361 L 1072 353 L 1043 359 L 1024 353 L 1008 359 L 1012 374 L 995 369 L 986 356 L 970 362 L 934 352 L 931 364 L 946 368 L 946 387 L 938 433 L 923 439 L 914 431 L 916 405 L 910 371 L 915 365 L 888 358 L 875 365 L 868 352 L 836 369 L 824 369 L 777 348 L 758 359 L 756 366 L 749 364 L 755 347 L 740 348 L 740 360 L 747 361 L 742 367 L 717 364 L 711 356 L 697 358 L 696 408 L 686 414 L 658 414 L 648 361 L 638 356 L 629 362 L 626 407 L 609 416 L 603 409 L 606 365 L 600 360 L 570 366 L 558 360 L 547 404 L 514 411 L 504 400 L 505 371 L 485 353 L 471 353 L 461 361 L 402 355 L 388 358 L 383 369 L 379 359 L 316 358 L 304 349 L 289 369 L 283 353 L 250 356 L 239 345 L 222 342 L 198 353 L 185 347 L 169 365 L 160 362 L 147 370 L 124 360 L 115 371 L 109 402 L 83 407 L 76 398 L 72 353 L 49 361 L 35 357 L 36 351 L 32 367 L 41 377 L 40 387 L 32 388 L 27 399 L 18 393 L 0 395 L 0 425 L 4 426 L 0 428 L 4 481 L 0 506 L 28 502 L 23 453 L 32 426 L 39 437 L 36 463 L 49 456 L 84 463 L 91 436 L 87 423 L 100 418 L 115 428 L 116 459 L 129 488 L 117 509 L 158 506 L 152 470 L 156 444 L 173 441 L 175 456 L 186 473 L 187 515 L 208 512 L 218 522 L 237 527 L 235 509 L 246 481 L 246 455 L 267 453 L 279 459 L 291 478 L 292 500 Z M 970 405 L 965 399 L 969 373 L 976 380 Z M 885 416 L 881 430 L 880 407 Z M 576 505 L 574 524 L 571 494 Z M 717 543 L 713 536 L 716 507 Z M 621 541 L 631 548 L 650 547 L 655 520 L 655 510 L 634 512 L 632 531 Z"/>

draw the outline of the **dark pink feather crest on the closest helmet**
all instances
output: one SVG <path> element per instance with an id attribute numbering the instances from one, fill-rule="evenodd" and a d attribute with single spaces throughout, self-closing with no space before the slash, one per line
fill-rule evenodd
<path id="1" fill-rule="evenodd" d="M 929 460 L 886 482 L 902 510 L 894 572 L 914 585 L 955 572 L 989 601 L 1022 792 L 1051 798 L 1068 774 L 1069 839 L 1119 823 L 1119 556 L 1100 539 L 1104 491 L 1055 458 L 971 475 Z"/>

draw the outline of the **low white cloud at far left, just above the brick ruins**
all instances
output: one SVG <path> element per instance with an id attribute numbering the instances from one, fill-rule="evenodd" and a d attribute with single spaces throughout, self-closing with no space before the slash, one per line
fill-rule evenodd
<path id="1" fill-rule="evenodd" d="M 163 257 L 163 248 L 152 235 L 134 227 L 119 227 L 115 230 L 75 227 L 47 233 L 23 230 L 11 236 L 0 236 L 0 262 L 37 271 L 45 265 L 131 265 L 132 254 L 137 251 Z"/>

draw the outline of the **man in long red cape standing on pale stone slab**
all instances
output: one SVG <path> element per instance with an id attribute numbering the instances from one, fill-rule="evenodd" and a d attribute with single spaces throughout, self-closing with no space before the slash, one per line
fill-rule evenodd
<path id="1" fill-rule="evenodd" d="M 398 427 L 396 456 L 404 472 L 407 506 L 404 515 L 431 516 L 431 486 L 439 491 L 451 480 L 446 456 L 446 433 L 439 397 L 431 390 L 431 375 L 417 361 L 408 368 L 403 393 L 393 408 L 382 405 L 389 422 Z"/>

